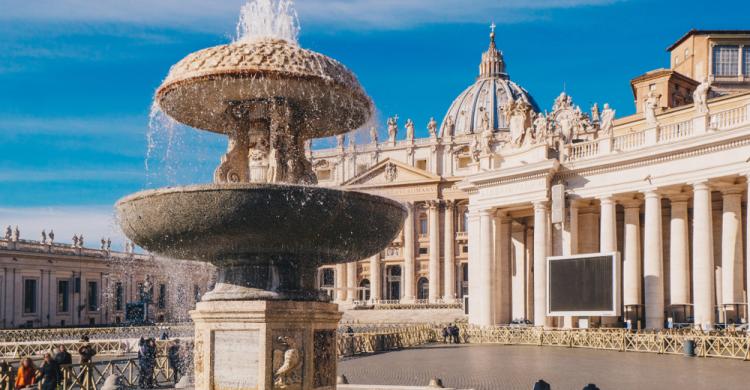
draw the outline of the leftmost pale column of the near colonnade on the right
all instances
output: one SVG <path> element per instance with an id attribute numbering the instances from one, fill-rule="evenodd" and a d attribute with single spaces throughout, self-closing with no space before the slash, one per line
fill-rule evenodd
<path id="1" fill-rule="evenodd" d="M 494 241 L 492 212 L 479 212 L 479 324 L 492 325 L 494 319 Z M 472 299 L 469 297 L 469 299 Z"/>

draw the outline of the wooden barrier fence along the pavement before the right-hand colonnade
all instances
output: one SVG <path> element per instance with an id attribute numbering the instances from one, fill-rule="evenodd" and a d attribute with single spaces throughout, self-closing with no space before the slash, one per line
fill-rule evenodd
<path id="1" fill-rule="evenodd" d="M 696 356 L 750 360 L 748 337 L 731 332 L 465 326 L 461 333 L 464 342 L 476 344 L 539 345 L 659 354 L 682 354 L 686 341 L 691 340 L 695 342 Z"/>

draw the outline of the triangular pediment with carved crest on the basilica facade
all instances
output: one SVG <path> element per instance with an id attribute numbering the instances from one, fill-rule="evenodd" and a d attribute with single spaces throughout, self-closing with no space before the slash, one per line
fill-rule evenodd
<path id="1" fill-rule="evenodd" d="M 423 169 L 387 158 L 365 172 L 349 179 L 344 187 L 384 187 L 412 184 L 431 184 L 441 178 Z"/>

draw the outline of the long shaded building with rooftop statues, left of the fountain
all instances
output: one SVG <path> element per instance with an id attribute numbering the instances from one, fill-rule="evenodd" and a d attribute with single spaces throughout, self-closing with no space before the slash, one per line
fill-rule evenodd
<path id="1" fill-rule="evenodd" d="M 189 321 L 188 311 L 211 286 L 210 267 L 110 249 L 21 237 L 18 227 L 0 238 L 0 327 L 38 328 L 127 323 L 128 304 L 147 305 L 149 322 Z"/>

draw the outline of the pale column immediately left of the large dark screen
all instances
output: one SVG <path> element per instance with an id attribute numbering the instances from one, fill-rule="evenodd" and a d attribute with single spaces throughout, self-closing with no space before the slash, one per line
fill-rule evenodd
<path id="1" fill-rule="evenodd" d="M 547 319 L 547 201 L 534 203 L 534 325 L 548 326 Z"/>

